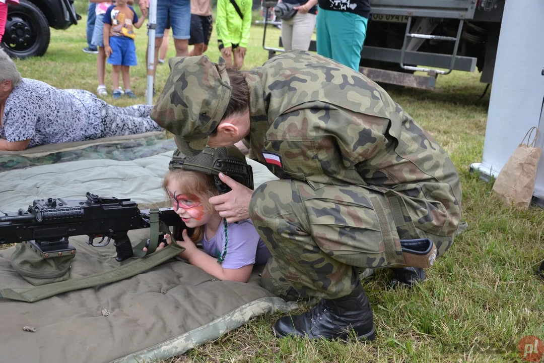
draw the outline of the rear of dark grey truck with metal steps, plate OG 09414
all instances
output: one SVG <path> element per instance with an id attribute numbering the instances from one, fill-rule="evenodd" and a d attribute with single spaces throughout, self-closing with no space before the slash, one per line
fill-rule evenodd
<path id="1" fill-rule="evenodd" d="M 349 1 L 349 0 L 345 0 Z M 438 75 L 481 72 L 491 83 L 505 0 L 370 0 L 359 70 L 375 82 L 433 89 Z M 273 11 L 274 2 L 263 6 Z M 319 10 L 318 10 L 319 11 Z M 265 46 L 269 57 L 282 52 Z M 268 22 L 270 23 L 270 22 Z M 316 51 L 312 41 L 310 51 Z M 421 71 L 426 74 L 414 74 Z"/>

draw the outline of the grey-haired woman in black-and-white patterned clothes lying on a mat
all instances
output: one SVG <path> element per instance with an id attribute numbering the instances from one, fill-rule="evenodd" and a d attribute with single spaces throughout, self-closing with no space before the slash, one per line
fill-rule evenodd
<path id="1" fill-rule="evenodd" d="M 0 150 L 163 130 L 152 105 L 115 107 L 81 89 L 22 78 L 0 48 Z"/>

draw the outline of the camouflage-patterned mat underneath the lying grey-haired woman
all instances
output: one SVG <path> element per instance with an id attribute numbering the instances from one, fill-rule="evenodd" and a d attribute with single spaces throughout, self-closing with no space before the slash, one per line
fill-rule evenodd
<path id="1" fill-rule="evenodd" d="M 128 161 L 176 149 L 174 139 L 165 139 L 162 132 L 143 134 L 140 137 L 133 136 L 128 139 L 106 138 L 94 140 L 92 143 L 68 144 L 72 145 L 63 144 L 58 150 L 42 151 L 36 147 L 24 153 L 4 152 L 7 155 L 0 155 L 0 172 L 78 160 Z"/>

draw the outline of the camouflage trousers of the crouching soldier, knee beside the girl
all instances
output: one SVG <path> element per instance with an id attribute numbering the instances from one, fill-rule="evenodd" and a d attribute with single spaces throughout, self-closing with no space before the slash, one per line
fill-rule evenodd
<path id="1" fill-rule="evenodd" d="M 263 287 L 284 298 L 336 299 L 353 290 L 363 268 L 406 266 L 400 238 L 429 238 L 437 255 L 453 242 L 453 236 L 414 230 L 407 212 L 395 216 L 393 207 L 402 210 L 383 193 L 361 186 L 263 183 L 250 202 L 250 218 L 273 257 Z"/>

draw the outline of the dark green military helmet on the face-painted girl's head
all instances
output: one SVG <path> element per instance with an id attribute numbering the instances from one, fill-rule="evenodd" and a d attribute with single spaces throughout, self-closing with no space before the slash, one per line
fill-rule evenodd
<path id="1" fill-rule="evenodd" d="M 196 156 L 186 156 L 180 150 L 176 150 L 168 168 L 212 175 L 220 193 L 230 192 L 231 188 L 219 179 L 219 173 L 230 176 L 238 183 L 253 189 L 253 170 L 245 161 L 244 154 L 236 146 L 222 146 L 217 149 L 206 146 Z"/>

